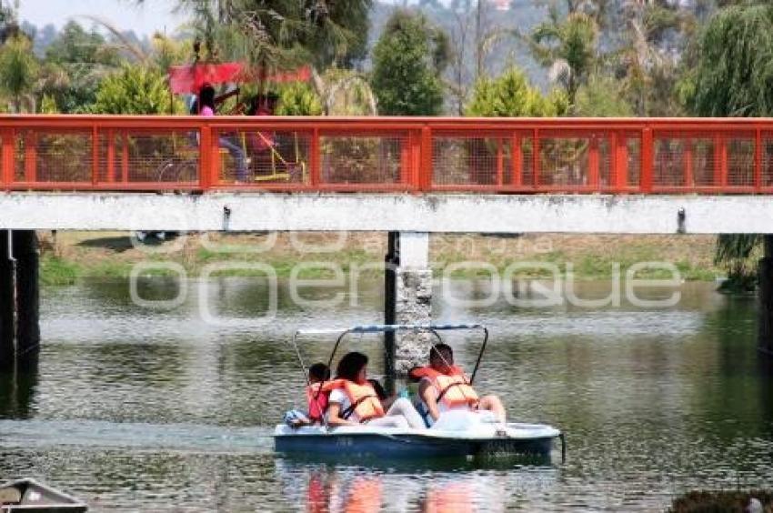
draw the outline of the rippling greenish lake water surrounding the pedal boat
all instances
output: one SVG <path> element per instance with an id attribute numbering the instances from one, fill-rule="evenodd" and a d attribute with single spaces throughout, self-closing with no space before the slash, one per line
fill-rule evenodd
<path id="1" fill-rule="evenodd" d="M 380 284 L 356 288 L 300 307 L 283 285 L 274 314 L 266 284 L 248 278 L 145 282 L 146 298 L 186 292 L 166 310 L 136 306 L 122 281 L 46 288 L 37 372 L 0 376 L 0 479 L 39 478 L 95 511 L 662 510 L 691 488 L 773 487 L 773 371 L 756 350 L 756 299 L 713 284 L 686 284 L 660 308 L 470 306 L 438 291 L 436 320 L 491 329 L 477 388 L 503 397 L 512 420 L 564 430 L 565 464 L 276 457 L 273 426 L 302 405 L 289 337 L 379 322 Z M 449 341 L 471 368 L 477 340 Z M 305 340 L 305 357 L 326 359 L 331 342 Z M 381 368 L 376 338 L 348 347 Z"/>

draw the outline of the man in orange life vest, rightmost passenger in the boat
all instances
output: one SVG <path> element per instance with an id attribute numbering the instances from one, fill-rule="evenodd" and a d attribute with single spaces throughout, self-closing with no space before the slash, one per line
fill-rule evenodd
<path id="1" fill-rule="evenodd" d="M 454 365 L 454 350 L 436 344 L 429 350 L 429 366 L 414 367 L 409 377 L 419 381 L 418 395 L 425 409 L 427 424 L 452 409 L 487 410 L 498 422 L 505 423 L 505 407 L 497 396 L 478 397 L 464 371 Z"/>

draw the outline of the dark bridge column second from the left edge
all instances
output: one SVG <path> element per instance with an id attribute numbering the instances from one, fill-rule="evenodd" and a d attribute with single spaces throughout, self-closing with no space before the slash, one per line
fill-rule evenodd
<path id="1" fill-rule="evenodd" d="M 20 369 L 35 368 L 40 352 L 39 254 L 35 230 L 14 232 L 16 260 L 16 362 Z"/>

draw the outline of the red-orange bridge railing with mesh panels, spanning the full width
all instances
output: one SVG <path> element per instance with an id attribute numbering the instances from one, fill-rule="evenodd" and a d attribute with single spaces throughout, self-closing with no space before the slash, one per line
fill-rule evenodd
<path id="1" fill-rule="evenodd" d="M 0 189 L 771 194 L 773 119 L 0 117 Z"/>

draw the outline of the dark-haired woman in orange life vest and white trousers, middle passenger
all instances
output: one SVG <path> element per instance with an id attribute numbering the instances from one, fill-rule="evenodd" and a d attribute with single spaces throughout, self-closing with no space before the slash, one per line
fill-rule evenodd
<path id="1" fill-rule="evenodd" d="M 327 424 L 330 426 L 377 426 L 382 428 L 425 428 L 417 409 L 403 397 L 379 400 L 367 380 L 367 357 L 346 354 L 336 367 L 336 379 L 322 386 L 329 390 Z"/>

